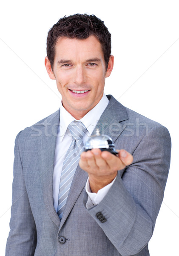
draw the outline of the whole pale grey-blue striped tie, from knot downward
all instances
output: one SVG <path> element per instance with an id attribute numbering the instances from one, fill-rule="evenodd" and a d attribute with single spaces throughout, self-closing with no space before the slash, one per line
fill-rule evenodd
<path id="1" fill-rule="evenodd" d="M 70 186 L 74 177 L 74 173 L 77 169 L 80 154 L 82 153 L 82 138 L 87 131 L 85 125 L 83 125 L 82 122 L 76 120 L 68 125 L 68 129 L 71 132 L 73 140 L 65 155 L 65 160 L 63 162 L 63 168 L 60 177 L 57 209 L 57 213 L 60 219 L 62 218 Z"/>

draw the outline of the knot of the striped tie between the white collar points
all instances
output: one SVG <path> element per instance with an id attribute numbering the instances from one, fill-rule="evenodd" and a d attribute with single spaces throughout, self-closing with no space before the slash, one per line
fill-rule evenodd
<path id="1" fill-rule="evenodd" d="M 73 121 L 68 125 L 68 128 L 71 132 L 73 140 L 82 140 L 83 136 L 85 135 L 87 129 L 85 125 L 81 121 Z"/>

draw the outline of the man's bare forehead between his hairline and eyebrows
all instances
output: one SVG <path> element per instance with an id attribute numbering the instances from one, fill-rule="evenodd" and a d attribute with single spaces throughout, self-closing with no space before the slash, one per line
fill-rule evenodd
<path id="1" fill-rule="evenodd" d="M 60 37 L 55 47 L 55 58 L 78 56 L 86 58 L 94 55 L 103 58 L 102 47 L 99 40 L 91 35 L 86 39 Z"/>

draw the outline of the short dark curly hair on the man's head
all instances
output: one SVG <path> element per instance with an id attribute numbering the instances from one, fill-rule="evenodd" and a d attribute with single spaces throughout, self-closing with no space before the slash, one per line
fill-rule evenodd
<path id="1" fill-rule="evenodd" d="M 101 44 L 107 70 L 109 57 L 111 55 L 111 34 L 102 20 L 95 15 L 87 14 L 65 16 L 48 31 L 47 57 L 51 63 L 52 69 L 54 65 L 55 46 L 58 38 L 65 36 L 67 38 L 85 39 L 90 35 L 95 35 Z"/>

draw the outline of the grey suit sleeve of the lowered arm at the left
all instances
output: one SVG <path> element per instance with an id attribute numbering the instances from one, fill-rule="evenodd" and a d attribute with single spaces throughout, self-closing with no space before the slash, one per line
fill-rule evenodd
<path id="1" fill-rule="evenodd" d="M 31 212 L 23 177 L 18 139 L 14 148 L 14 179 L 12 185 L 12 206 L 10 232 L 6 244 L 6 256 L 33 256 L 36 247 L 36 227 Z"/>

